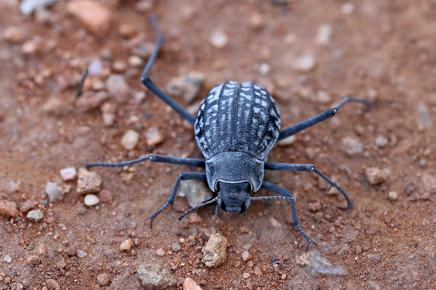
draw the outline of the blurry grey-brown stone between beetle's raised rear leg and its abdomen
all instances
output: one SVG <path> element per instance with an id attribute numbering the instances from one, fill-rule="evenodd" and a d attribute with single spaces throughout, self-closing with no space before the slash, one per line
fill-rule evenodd
<path id="1" fill-rule="evenodd" d="M 192 103 L 200 91 L 203 80 L 204 74 L 197 71 L 173 77 L 167 84 L 167 92 L 171 96 L 183 97 L 187 103 Z"/>

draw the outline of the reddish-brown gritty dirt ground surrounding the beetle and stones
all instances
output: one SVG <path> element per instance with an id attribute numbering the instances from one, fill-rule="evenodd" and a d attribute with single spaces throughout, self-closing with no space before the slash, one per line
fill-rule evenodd
<path id="1" fill-rule="evenodd" d="M 280 5 L 266 0 L 150 1 L 153 5 L 145 12 L 133 1 L 101 2 L 113 19 L 108 32 L 94 36 L 68 14 L 66 2 L 48 8 L 51 19 L 41 23 L 35 16 L 22 15 L 16 1 L 0 1 L 0 35 L 10 26 L 23 33 L 21 43 L 0 40 L 1 199 L 18 207 L 31 200 L 44 214 L 37 223 L 25 213 L 18 218 L 0 216 L 1 289 L 20 283 L 24 289 L 41 290 L 48 279 L 62 290 L 141 289 L 130 273 L 148 261 L 174 267 L 177 279 L 190 277 L 203 289 L 436 289 L 436 195 L 430 184 L 436 175 L 434 0 L 295 0 Z M 113 192 L 113 200 L 77 213 L 84 207 L 83 197 L 76 193 L 75 182 L 61 182 L 62 168 L 150 153 L 202 157 L 193 129 L 149 91 L 141 104 L 110 99 L 116 105 L 116 120 L 105 127 L 101 111 L 75 108 L 75 87 L 64 85 L 77 80 L 104 50 L 112 52 L 112 60 L 101 58 L 109 70 L 114 60 L 127 64 L 131 54 L 119 27 L 131 23 L 153 42 L 155 35 L 146 21 L 150 14 L 157 16 L 166 37 L 150 77 L 165 89 L 171 77 L 204 73 L 194 103 L 225 80 L 253 80 L 272 93 L 285 128 L 331 107 L 340 95 L 374 101 L 369 111 L 359 104 L 345 105 L 336 117 L 298 133 L 292 145 L 275 147 L 271 153 L 279 162 L 315 164 L 351 197 L 353 210 L 341 211 L 337 207 L 344 206 L 344 198 L 320 189 L 316 175 L 283 172 L 275 177 L 279 185 L 293 190 L 300 223 L 318 243 L 317 250 L 346 268 L 347 276 L 311 277 L 296 264 L 306 241 L 297 230 L 291 231 L 290 207 L 281 200 L 253 202 L 240 215 L 221 211 L 219 219 L 215 206 L 204 207 L 197 210 L 202 224 L 190 224 L 188 218 L 177 223 L 180 212 L 167 209 L 151 230 L 145 219 L 167 200 L 177 174 L 197 169 L 143 163 L 133 166 L 131 182 L 122 169 L 93 169 L 102 176 L 102 188 Z M 327 44 L 316 40 L 323 24 L 332 28 Z M 209 42 L 215 29 L 228 35 L 220 49 Z M 29 52 L 23 43 L 32 39 L 38 49 Z M 293 61 L 306 53 L 314 56 L 316 67 L 296 72 Z M 258 69 L 262 63 L 269 65 L 264 74 Z M 139 74 L 140 68 L 127 64 L 123 75 L 132 95 L 145 90 Z M 106 77 L 91 80 L 104 83 Z M 330 95 L 327 103 L 316 101 L 325 96 L 320 91 Z M 315 101 L 310 92 L 318 96 Z M 43 107 L 51 98 L 61 100 L 65 110 L 48 114 Z M 161 144 L 147 145 L 144 133 L 149 128 L 164 135 Z M 140 141 L 127 152 L 120 140 L 129 129 L 140 133 Z M 379 136 L 388 140 L 381 148 L 374 143 Z M 360 140 L 363 154 L 348 157 L 341 149 L 344 137 Z M 367 167 L 384 170 L 387 179 L 368 184 Z M 47 203 L 48 181 L 72 188 L 63 200 Z M 398 200 L 388 198 L 391 191 Z M 316 201 L 321 207 L 313 212 L 309 203 Z M 182 202 L 178 197 L 176 203 Z M 198 250 L 191 243 L 182 244 L 179 252 L 156 254 L 158 248 L 171 251 L 172 243 L 203 227 L 215 227 L 231 244 L 221 266 L 198 268 Z M 129 237 L 138 239 L 139 245 L 130 253 L 120 251 L 120 243 Z M 252 245 L 253 267 L 242 261 L 246 244 Z M 87 255 L 68 256 L 72 245 Z M 368 259 L 372 254 L 380 254 L 379 263 Z M 4 260 L 6 255 L 10 262 Z M 38 255 L 41 263 L 28 265 L 31 255 Z M 57 267 L 62 260 L 67 265 Z M 262 275 L 253 273 L 256 266 Z M 199 269 L 206 269 L 201 276 Z M 109 275 L 109 286 L 97 284 L 101 273 Z"/>

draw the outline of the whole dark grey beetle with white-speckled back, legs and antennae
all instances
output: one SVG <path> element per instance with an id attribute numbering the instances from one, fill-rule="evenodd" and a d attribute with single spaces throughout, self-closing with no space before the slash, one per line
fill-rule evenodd
<path id="1" fill-rule="evenodd" d="M 194 127 L 195 140 L 205 159 L 150 154 L 146 157 L 121 163 L 87 163 L 87 168 L 95 166 L 124 167 L 147 160 L 205 167 L 206 172 L 182 172 L 179 174 L 170 198 L 164 206 L 149 217 L 151 220 L 150 227 L 152 227 L 153 219 L 159 213 L 168 206 L 173 205 L 181 180 L 205 180 L 210 189 L 216 192 L 218 196 L 191 208 L 178 217 L 177 221 L 192 210 L 215 202 L 217 203 L 216 214 L 218 208 L 229 213 L 243 213 L 248 210 L 252 200 L 284 199 L 290 201 L 293 227 L 296 227 L 307 240 L 306 251 L 310 243 L 317 245 L 305 233 L 298 222 L 292 191 L 263 181 L 264 170 L 316 173 L 326 180 L 331 187 L 336 187 L 345 197 L 347 207 L 339 207 L 341 210 L 348 210 L 353 207 L 350 198 L 337 183 L 321 173 L 313 164 L 271 163 L 266 162 L 266 158 L 278 140 L 292 136 L 333 117 L 345 103 L 360 102 L 371 106 L 371 102 L 364 99 L 344 97 L 335 107 L 331 107 L 317 116 L 289 128 L 280 130 L 279 108 L 264 87 L 253 82 L 227 81 L 209 91 L 201 102 L 197 115 L 193 116 L 160 90 L 148 76 L 148 72 L 164 40 L 156 18 L 150 17 L 150 22 L 157 35 L 157 41 L 143 70 L 141 82 Z M 278 193 L 279 196 L 250 196 L 252 192 L 256 192 L 260 188 Z"/>

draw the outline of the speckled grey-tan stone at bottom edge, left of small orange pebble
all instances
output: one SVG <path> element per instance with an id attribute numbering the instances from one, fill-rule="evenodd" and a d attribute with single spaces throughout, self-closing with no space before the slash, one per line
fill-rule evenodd
<path id="1" fill-rule="evenodd" d="M 177 277 L 160 263 L 146 263 L 136 267 L 145 290 L 164 290 L 177 285 Z"/>

